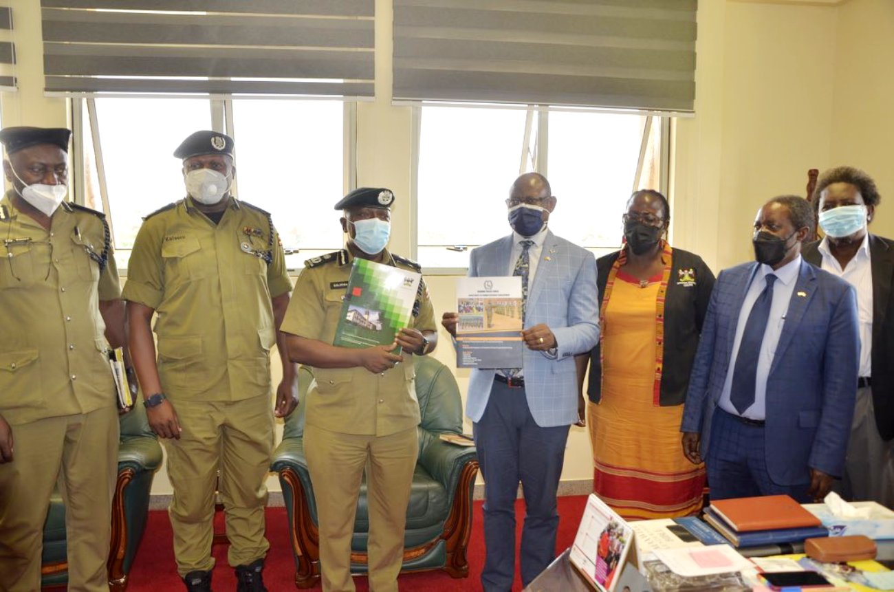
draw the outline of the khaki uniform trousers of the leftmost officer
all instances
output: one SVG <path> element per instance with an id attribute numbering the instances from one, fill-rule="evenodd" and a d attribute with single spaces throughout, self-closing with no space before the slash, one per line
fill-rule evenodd
<path id="1" fill-rule="evenodd" d="M 44 522 L 58 486 L 68 589 L 108 592 L 118 434 L 114 405 L 13 426 L 13 461 L 0 464 L 0 590 L 40 589 Z"/>

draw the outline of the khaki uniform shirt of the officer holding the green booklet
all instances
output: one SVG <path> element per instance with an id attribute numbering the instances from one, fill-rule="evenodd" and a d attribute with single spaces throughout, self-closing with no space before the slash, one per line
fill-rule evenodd
<path id="1" fill-rule="evenodd" d="M 282 330 L 308 339 L 333 343 L 352 264 L 346 249 L 308 260 L 292 292 Z M 418 271 L 407 259 L 384 251 L 384 262 Z M 434 309 L 420 283 L 410 326 L 434 331 Z M 308 426 L 364 436 L 388 436 L 419 424 L 413 356 L 382 374 L 367 368 L 312 368 L 305 421 Z"/>

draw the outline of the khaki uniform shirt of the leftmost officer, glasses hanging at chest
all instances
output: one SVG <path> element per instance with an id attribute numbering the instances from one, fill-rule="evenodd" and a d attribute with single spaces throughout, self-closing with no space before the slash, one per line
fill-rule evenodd
<path id="1" fill-rule="evenodd" d="M 105 216 L 63 203 L 47 231 L 0 199 L 0 415 L 10 424 L 116 401 L 99 300 L 121 298 Z"/>

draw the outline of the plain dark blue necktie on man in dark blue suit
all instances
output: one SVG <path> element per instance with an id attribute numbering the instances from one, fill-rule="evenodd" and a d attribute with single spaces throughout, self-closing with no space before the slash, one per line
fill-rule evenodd
<path id="1" fill-rule="evenodd" d="M 763 334 L 767 330 L 767 319 L 770 318 L 770 307 L 773 303 L 773 282 L 775 275 L 767 275 L 767 285 L 751 307 L 742 341 L 738 344 L 736 369 L 732 374 L 730 386 L 730 402 L 739 412 L 751 407 L 755 402 L 755 378 L 757 376 L 757 360 L 761 357 Z"/>

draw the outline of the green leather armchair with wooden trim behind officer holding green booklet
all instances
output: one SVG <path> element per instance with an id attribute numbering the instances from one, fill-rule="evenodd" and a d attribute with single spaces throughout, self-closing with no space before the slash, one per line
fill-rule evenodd
<path id="1" fill-rule="evenodd" d="M 472 529 L 472 491 L 478 472 L 474 447 L 448 444 L 438 436 L 462 431 L 460 387 L 449 368 L 430 356 L 417 357 L 416 394 L 422 421 L 419 458 L 407 508 L 401 571 L 444 570 L 468 576 L 466 547 Z M 291 526 L 295 585 L 313 588 L 320 579 L 319 533 L 314 489 L 304 456 L 304 399 L 313 379 L 299 370 L 299 404 L 286 419 L 283 442 L 274 451 L 272 469 L 279 475 Z M 364 479 L 351 542 L 351 571 L 367 571 L 367 485 Z"/>

